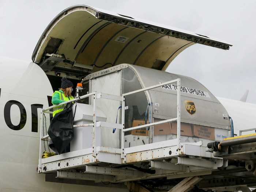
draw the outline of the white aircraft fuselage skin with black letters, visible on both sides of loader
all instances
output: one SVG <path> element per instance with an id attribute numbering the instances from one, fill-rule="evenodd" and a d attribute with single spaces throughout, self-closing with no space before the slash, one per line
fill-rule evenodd
<path id="1" fill-rule="evenodd" d="M 45 175 L 37 173 L 39 125 L 36 124 L 35 116 L 32 123 L 31 108 L 38 104 L 43 105 L 43 108 L 48 107 L 47 96 L 52 95 L 52 87 L 46 74 L 37 64 L 0 57 L 0 66 L 1 192 L 128 191 L 45 182 Z M 255 127 L 255 104 L 218 99 L 233 118 L 235 133 L 238 134 L 239 129 Z M 38 122 L 40 111 L 41 108 L 38 108 Z"/>

